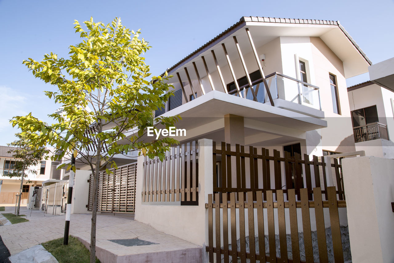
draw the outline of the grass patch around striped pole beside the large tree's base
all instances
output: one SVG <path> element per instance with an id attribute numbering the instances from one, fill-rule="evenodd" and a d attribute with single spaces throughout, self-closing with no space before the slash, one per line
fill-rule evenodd
<path id="1" fill-rule="evenodd" d="M 59 263 L 86 263 L 90 260 L 90 251 L 75 237 L 69 236 L 69 244 L 63 245 L 63 238 L 42 244 Z M 96 257 L 96 263 L 100 263 Z"/>

